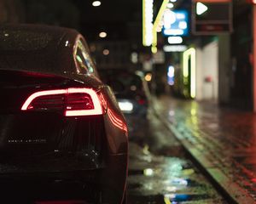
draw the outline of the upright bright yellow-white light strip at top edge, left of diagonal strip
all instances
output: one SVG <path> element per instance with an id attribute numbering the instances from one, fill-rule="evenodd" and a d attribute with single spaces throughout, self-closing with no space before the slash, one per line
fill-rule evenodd
<path id="1" fill-rule="evenodd" d="M 153 0 L 143 0 L 143 45 L 150 46 L 153 40 Z"/>

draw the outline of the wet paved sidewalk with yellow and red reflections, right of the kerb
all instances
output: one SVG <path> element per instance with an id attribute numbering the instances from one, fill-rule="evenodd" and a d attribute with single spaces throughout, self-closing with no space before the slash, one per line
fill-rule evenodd
<path id="1" fill-rule="evenodd" d="M 256 203 L 256 115 L 162 96 L 154 110 L 234 203 Z"/>

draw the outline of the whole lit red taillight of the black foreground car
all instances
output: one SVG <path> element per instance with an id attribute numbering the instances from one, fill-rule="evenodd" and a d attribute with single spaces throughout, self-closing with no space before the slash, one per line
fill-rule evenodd
<path id="1" fill-rule="evenodd" d="M 65 116 L 102 115 L 101 101 L 96 92 L 90 88 L 67 88 L 36 92 L 26 99 L 21 110 L 64 110 Z"/>

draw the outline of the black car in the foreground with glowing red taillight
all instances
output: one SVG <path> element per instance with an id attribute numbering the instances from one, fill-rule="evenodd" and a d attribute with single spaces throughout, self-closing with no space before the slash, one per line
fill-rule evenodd
<path id="1" fill-rule="evenodd" d="M 0 26 L 0 91 L 1 202 L 126 203 L 125 118 L 78 31 Z"/>

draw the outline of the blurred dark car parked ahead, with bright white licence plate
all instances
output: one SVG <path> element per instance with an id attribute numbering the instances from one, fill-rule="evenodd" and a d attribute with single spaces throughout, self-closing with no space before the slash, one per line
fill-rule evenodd
<path id="1" fill-rule="evenodd" d="M 102 81 L 113 88 L 119 108 L 125 114 L 129 136 L 143 137 L 147 133 L 148 104 L 150 94 L 148 84 L 141 71 L 123 69 L 100 70 Z"/>

